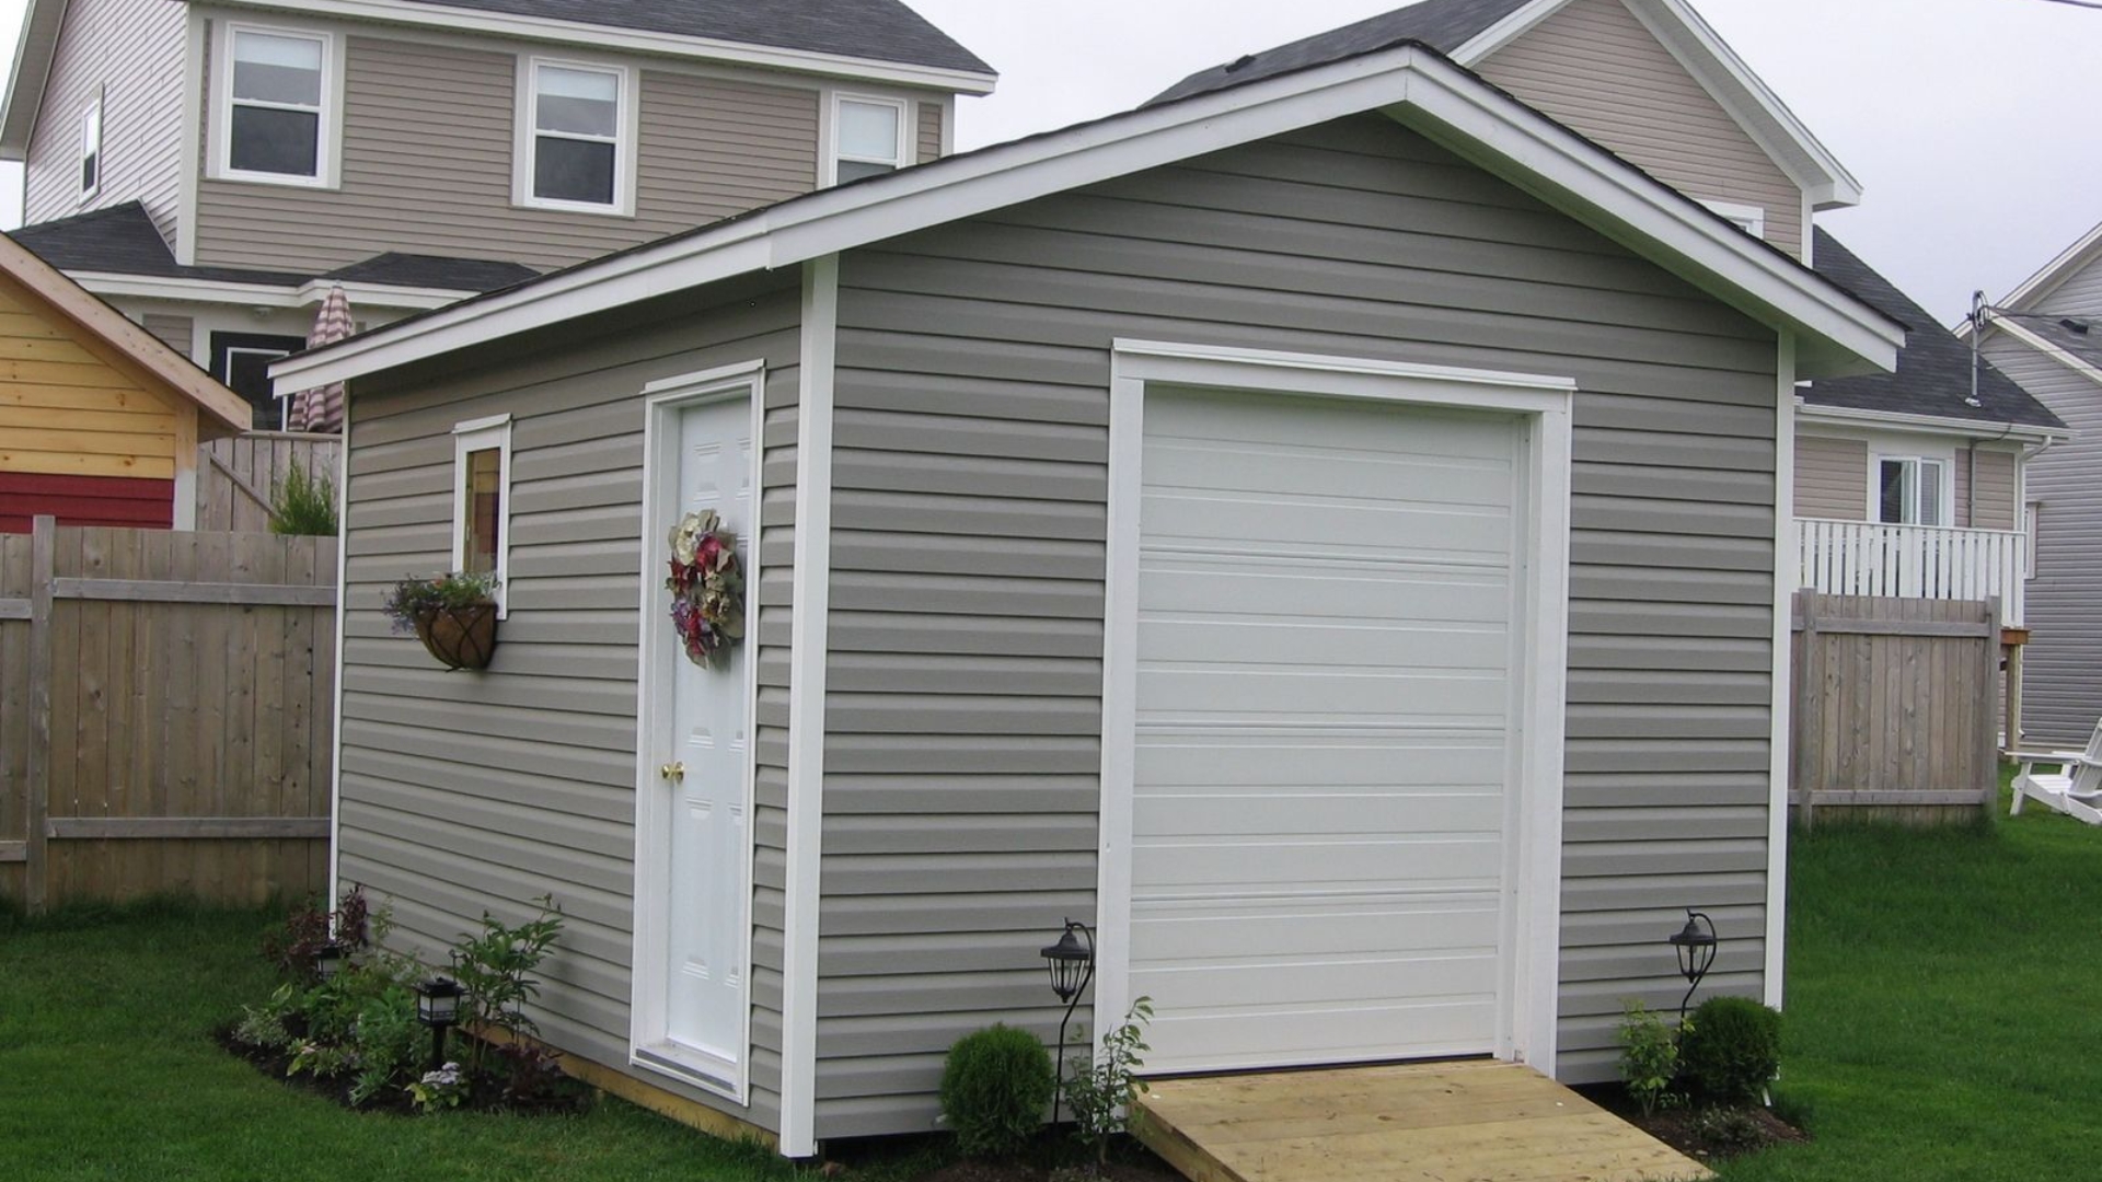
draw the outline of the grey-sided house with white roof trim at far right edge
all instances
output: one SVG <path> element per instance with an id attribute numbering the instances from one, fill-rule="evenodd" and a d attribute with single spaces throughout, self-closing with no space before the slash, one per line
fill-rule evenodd
<path id="1" fill-rule="evenodd" d="M 2022 738 L 2081 747 L 2102 717 L 2102 225 L 1986 311 L 1980 349 L 2075 429 L 2028 465 Z"/>

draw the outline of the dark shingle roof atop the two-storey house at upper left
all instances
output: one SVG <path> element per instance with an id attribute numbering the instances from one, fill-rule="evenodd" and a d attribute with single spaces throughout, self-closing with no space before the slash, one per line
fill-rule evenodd
<path id="1" fill-rule="evenodd" d="M 935 69 L 992 67 L 900 0 L 412 0 Z"/>

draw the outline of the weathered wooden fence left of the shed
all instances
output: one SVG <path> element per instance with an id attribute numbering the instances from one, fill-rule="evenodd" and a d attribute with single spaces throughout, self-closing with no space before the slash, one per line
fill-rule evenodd
<path id="1" fill-rule="evenodd" d="M 0 536 L 0 894 L 326 881 L 336 538 Z"/>

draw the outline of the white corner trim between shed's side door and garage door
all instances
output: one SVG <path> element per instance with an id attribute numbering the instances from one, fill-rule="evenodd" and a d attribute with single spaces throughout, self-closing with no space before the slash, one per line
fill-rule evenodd
<path id="1" fill-rule="evenodd" d="M 839 257 L 803 265 L 797 395 L 795 618 L 788 652 L 788 890 L 782 938 L 784 1157 L 818 1153 L 818 917 L 824 862 L 824 688 L 832 599 L 832 366 Z"/>

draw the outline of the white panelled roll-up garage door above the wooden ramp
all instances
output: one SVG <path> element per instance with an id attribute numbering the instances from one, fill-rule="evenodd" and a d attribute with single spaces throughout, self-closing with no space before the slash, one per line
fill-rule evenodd
<path id="1" fill-rule="evenodd" d="M 1522 454 L 1513 416 L 1148 389 L 1148 1068 L 1497 1049 Z"/>

